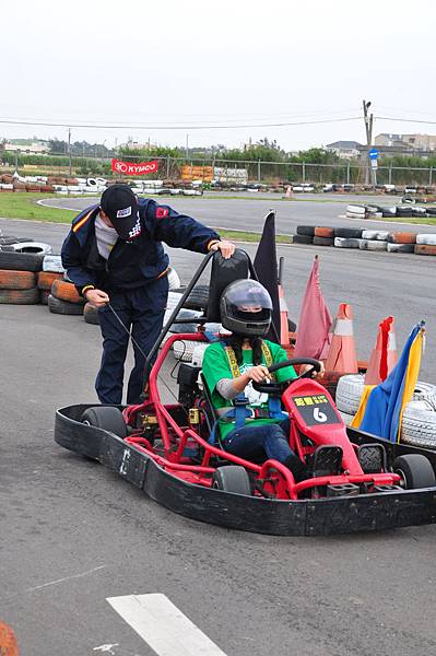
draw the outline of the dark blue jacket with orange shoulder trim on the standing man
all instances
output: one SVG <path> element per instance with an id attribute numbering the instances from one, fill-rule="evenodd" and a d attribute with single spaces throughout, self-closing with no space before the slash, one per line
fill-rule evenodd
<path id="1" fill-rule="evenodd" d="M 149 198 L 140 198 L 138 204 L 140 235 L 129 242 L 118 239 L 107 260 L 99 255 L 95 237 L 99 206 L 86 208 L 73 220 L 61 256 L 67 274 L 80 293 L 90 284 L 110 292 L 142 286 L 158 278 L 169 263 L 162 242 L 207 254 L 210 242 L 220 238 L 214 230 L 168 206 Z"/>

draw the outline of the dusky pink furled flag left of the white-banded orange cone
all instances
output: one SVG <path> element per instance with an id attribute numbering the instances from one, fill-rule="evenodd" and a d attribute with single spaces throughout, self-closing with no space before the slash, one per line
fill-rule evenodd
<path id="1" fill-rule="evenodd" d="M 319 284 L 319 262 L 316 255 L 299 314 L 294 358 L 327 358 L 331 342 L 331 314 Z"/>

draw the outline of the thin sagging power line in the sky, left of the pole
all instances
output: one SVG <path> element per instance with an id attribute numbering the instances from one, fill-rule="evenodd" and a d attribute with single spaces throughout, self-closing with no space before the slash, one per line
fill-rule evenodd
<path id="1" fill-rule="evenodd" d="M 15 126 L 40 126 L 40 127 L 55 127 L 55 128 L 93 128 L 93 129 L 105 129 L 105 130 L 232 130 L 235 128 L 281 128 L 287 126 L 309 126 L 316 124 L 330 124 L 330 122 L 343 122 L 349 120 L 361 120 L 361 116 L 352 116 L 349 118 L 325 118 L 319 120 L 299 120 L 299 121 L 284 121 L 284 122 L 264 122 L 264 124 L 240 124 L 240 125 L 97 125 L 97 124 L 75 124 L 73 121 L 34 121 L 34 120 L 14 120 L 0 118 L 0 124 L 15 125 Z"/>

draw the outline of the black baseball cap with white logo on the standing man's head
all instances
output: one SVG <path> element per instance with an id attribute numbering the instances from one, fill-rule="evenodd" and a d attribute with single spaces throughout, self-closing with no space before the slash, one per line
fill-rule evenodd
<path id="1" fill-rule="evenodd" d="M 111 185 L 105 189 L 99 207 L 121 239 L 134 239 L 141 233 L 137 197 L 128 185 Z"/>

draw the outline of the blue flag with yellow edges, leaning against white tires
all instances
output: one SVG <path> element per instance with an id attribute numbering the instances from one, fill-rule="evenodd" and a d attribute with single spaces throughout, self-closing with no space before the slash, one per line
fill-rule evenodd
<path id="1" fill-rule="evenodd" d="M 366 386 L 352 426 L 390 442 L 399 442 L 401 421 L 412 399 L 420 374 L 425 321 L 416 324 L 404 344 L 400 359 L 380 385 Z"/>

